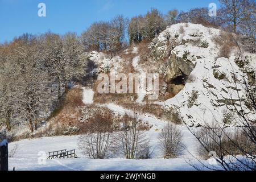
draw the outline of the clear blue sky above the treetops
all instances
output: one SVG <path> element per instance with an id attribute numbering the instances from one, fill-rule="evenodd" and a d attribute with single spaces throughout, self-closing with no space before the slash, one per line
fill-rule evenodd
<path id="1" fill-rule="evenodd" d="M 38 16 L 38 4 L 46 4 L 46 17 Z M 78 35 L 91 23 L 110 20 L 117 14 L 128 18 L 145 14 L 151 7 L 162 13 L 177 9 L 218 5 L 218 0 L 0 0 L 0 43 L 23 33 L 40 34 L 51 30 Z"/>

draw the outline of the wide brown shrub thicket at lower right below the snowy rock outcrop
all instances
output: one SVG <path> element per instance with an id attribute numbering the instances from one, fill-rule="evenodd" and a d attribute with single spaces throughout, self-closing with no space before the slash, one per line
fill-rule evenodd
<path id="1" fill-rule="evenodd" d="M 255 153 L 255 143 L 243 133 L 242 130 L 237 129 L 228 132 L 225 129 L 213 124 L 210 127 L 202 127 L 196 133 L 196 137 L 200 139 L 198 154 L 203 159 L 209 158 L 209 152 L 216 152 L 217 158 L 224 158 L 225 156 L 242 155 Z"/>

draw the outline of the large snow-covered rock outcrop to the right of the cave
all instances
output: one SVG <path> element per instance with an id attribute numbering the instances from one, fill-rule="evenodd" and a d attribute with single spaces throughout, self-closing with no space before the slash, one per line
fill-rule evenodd
<path id="1" fill-rule="evenodd" d="M 155 46 L 155 52 L 166 54 L 168 41 L 178 42 L 178 46 L 172 49 L 171 56 L 175 55 L 179 61 L 184 61 L 184 65 L 191 64 L 194 67 L 191 68 L 191 72 L 186 72 L 186 66 L 180 67 L 183 63 L 170 64 L 170 68 L 167 68 L 167 76 L 169 74 L 170 80 L 171 77 L 179 76 L 179 72 L 175 72 L 175 69 L 193 77 L 193 80 L 187 82 L 184 89 L 174 98 L 164 102 L 166 107 L 179 108 L 181 117 L 191 126 L 211 122 L 220 122 L 220 125 L 224 125 L 223 118 L 230 112 L 226 106 L 233 107 L 232 102 L 237 105 L 237 109 L 250 113 L 245 102 L 238 102 L 239 99 L 246 98 L 243 80 L 245 75 L 234 62 L 235 57 L 217 59 L 218 48 L 213 38 L 219 34 L 220 30 L 215 28 L 191 23 L 185 26 L 185 23 L 179 23 L 168 27 L 152 44 Z M 249 115 L 256 118 L 255 113 Z M 232 113 L 232 116 L 230 123 L 226 125 L 238 125 L 236 114 Z"/>

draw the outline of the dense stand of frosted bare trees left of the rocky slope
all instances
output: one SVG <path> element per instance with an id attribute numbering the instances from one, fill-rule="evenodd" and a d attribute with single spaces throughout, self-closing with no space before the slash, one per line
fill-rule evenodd
<path id="1" fill-rule="evenodd" d="M 0 47 L 0 122 L 10 130 L 45 119 L 85 69 L 76 34 L 24 34 Z"/>

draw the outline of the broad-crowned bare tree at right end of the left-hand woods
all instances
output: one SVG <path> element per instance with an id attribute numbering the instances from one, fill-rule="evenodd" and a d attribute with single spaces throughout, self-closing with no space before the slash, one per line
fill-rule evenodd
<path id="1" fill-rule="evenodd" d="M 73 77 L 82 73 L 82 44 L 76 34 L 68 33 L 63 39 L 48 32 L 44 36 L 44 57 L 49 75 L 57 81 L 58 98 L 67 90 Z"/>

